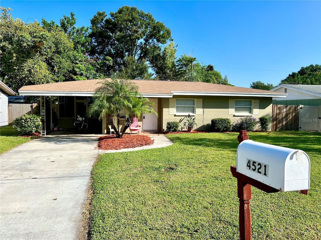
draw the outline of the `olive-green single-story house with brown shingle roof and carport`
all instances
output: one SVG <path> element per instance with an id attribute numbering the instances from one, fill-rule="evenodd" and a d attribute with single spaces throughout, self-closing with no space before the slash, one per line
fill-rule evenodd
<path id="1" fill-rule="evenodd" d="M 20 95 L 55 96 L 58 105 L 58 126 L 73 127 L 77 115 L 83 116 L 91 104 L 92 96 L 104 79 L 71 81 L 24 86 Z M 242 116 L 272 117 L 272 98 L 286 93 L 270 92 L 221 84 L 185 81 L 132 80 L 138 91 L 155 103 L 155 114 L 144 114 L 139 119 L 145 132 L 163 132 L 168 121 L 179 121 L 191 114 L 196 117 L 197 129 L 208 129 L 211 119 L 230 118 L 232 122 Z M 58 98 L 57 98 L 58 97 Z M 50 118 L 48 118 L 50 121 Z M 48 121 L 47 120 L 47 121 Z M 121 124 L 124 125 L 122 119 Z M 102 133 L 109 133 L 107 118 Z M 270 122 L 271 130 L 271 122 Z"/>

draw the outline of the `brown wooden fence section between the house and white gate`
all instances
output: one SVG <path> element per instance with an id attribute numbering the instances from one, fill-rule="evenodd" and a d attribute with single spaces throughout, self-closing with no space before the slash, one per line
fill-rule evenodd
<path id="1" fill-rule="evenodd" d="M 299 130 L 300 105 L 272 105 L 272 131 Z"/>

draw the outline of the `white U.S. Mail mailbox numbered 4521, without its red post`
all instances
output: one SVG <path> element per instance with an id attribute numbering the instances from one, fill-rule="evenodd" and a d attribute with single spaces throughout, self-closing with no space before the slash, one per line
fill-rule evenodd
<path id="1" fill-rule="evenodd" d="M 236 171 L 284 192 L 310 188 L 310 159 L 301 150 L 245 140 Z"/>

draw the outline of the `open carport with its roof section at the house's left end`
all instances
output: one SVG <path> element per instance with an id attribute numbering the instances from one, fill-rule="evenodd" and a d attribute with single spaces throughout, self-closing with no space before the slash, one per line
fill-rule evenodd
<path id="1" fill-rule="evenodd" d="M 40 115 L 43 118 L 41 135 L 46 135 L 55 127 L 74 128 L 77 115 L 86 115 L 100 81 L 30 85 L 19 89 L 19 94 L 40 97 Z M 88 128 L 90 133 L 102 133 L 102 121 L 88 118 Z"/>

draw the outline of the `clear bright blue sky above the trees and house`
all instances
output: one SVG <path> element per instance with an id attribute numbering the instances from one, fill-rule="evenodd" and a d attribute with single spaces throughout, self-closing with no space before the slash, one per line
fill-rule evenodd
<path id="1" fill-rule="evenodd" d="M 59 22 L 74 12 L 78 26 L 124 5 L 164 22 L 177 57 L 192 54 L 236 86 L 276 85 L 292 71 L 321 64 L 321 1 L 1 1 L 23 21 Z"/>

